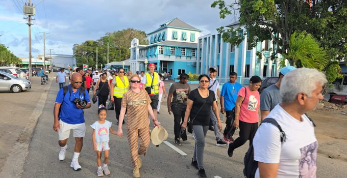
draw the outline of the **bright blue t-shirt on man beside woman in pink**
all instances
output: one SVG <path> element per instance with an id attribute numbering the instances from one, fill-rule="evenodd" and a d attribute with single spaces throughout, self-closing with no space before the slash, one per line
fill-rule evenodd
<path id="1" fill-rule="evenodd" d="M 226 111 L 231 111 L 235 107 L 237 94 L 241 87 L 241 84 L 237 82 L 234 84 L 230 82 L 223 84 L 220 96 L 224 97 L 224 109 Z"/>

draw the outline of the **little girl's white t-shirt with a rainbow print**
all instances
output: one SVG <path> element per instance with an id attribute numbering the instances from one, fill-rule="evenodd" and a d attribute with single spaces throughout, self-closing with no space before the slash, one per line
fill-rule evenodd
<path id="1" fill-rule="evenodd" d="M 90 125 L 91 128 L 95 130 L 95 141 L 103 142 L 110 140 L 110 128 L 112 123 L 105 120 L 104 124 L 100 124 L 97 121 Z"/>

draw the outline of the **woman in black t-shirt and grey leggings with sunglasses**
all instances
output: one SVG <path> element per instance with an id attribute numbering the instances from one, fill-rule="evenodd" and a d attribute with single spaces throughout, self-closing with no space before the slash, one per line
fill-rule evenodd
<path id="1" fill-rule="evenodd" d="M 199 176 L 206 177 L 204 169 L 204 148 L 205 136 L 210 125 L 210 114 L 208 111 L 211 109 L 217 117 L 218 129 L 221 131 L 221 123 L 219 111 L 217 107 L 216 98 L 214 93 L 208 90 L 210 77 L 206 74 L 199 76 L 199 87 L 191 91 L 188 95 L 187 109 L 184 116 L 182 128 L 186 129 L 188 122 L 188 115 L 193 120 L 193 135 L 195 138 L 194 155 L 191 164 L 199 169 Z"/>

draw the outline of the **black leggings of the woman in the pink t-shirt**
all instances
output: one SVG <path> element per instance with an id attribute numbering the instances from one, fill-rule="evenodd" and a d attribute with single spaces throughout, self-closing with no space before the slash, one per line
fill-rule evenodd
<path id="1" fill-rule="evenodd" d="M 247 140 L 250 140 L 250 145 L 253 142 L 254 135 L 258 129 L 258 123 L 245 123 L 239 121 L 239 137 L 231 144 L 230 149 L 235 150 L 242 146 Z"/>

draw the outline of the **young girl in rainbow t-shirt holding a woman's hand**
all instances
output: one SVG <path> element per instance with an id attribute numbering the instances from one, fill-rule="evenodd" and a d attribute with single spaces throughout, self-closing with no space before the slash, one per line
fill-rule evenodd
<path id="1" fill-rule="evenodd" d="M 97 162 L 97 176 L 104 176 L 110 174 L 110 170 L 107 167 L 108 163 L 108 157 L 109 157 L 109 140 L 110 140 L 110 132 L 112 134 L 117 134 L 116 131 L 114 131 L 111 126 L 112 123 L 105 120 L 107 115 L 107 109 L 105 106 L 101 105 L 99 106 L 99 109 L 97 110 L 97 113 L 99 115 L 99 120 L 96 121 L 93 125 L 91 125 L 91 128 L 93 128 L 93 149 L 94 152 L 96 152 L 96 162 Z M 96 130 L 96 133 L 95 133 Z M 104 151 L 104 165 L 101 167 L 101 152 Z M 104 171 L 104 172 L 103 172 Z"/>

